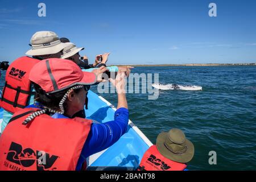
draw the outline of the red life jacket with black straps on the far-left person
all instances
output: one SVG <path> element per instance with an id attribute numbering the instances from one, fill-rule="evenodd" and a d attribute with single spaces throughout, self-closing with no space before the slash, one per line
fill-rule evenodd
<path id="1" fill-rule="evenodd" d="M 31 57 L 19 57 L 6 71 L 5 86 L 2 92 L 0 107 L 15 113 L 30 104 L 31 82 L 28 80 L 32 67 L 40 60 Z"/>

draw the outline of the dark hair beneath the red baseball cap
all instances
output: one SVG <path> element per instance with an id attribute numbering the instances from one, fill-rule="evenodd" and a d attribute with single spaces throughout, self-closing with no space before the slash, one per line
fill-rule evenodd
<path id="1" fill-rule="evenodd" d="M 60 111 L 60 101 L 64 97 L 64 95 L 68 92 L 68 89 L 62 90 L 60 92 L 47 94 L 38 84 L 35 84 L 32 82 L 32 85 L 35 89 L 35 100 L 42 104 L 43 106 L 46 106 L 50 109 Z M 75 93 L 79 93 L 81 89 L 75 89 Z M 67 102 L 65 101 L 63 104 L 64 110 L 67 111 Z"/>

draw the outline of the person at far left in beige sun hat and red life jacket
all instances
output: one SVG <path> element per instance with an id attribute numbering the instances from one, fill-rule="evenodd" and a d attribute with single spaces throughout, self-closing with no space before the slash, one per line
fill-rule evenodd
<path id="1" fill-rule="evenodd" d="M 5 86 L 2 90 L 0 107 L 3 107 L 2 131 L 13 113 L 33 103 L 34 92 L 28 75 L 32 67 L 40 60 L 60 58 L 62 50 L 67 47 L 61 43 L 55 32 L 36 32 L 30 41 L 32 47 L 26 55 L 14 60 L 6 71 Z"/>

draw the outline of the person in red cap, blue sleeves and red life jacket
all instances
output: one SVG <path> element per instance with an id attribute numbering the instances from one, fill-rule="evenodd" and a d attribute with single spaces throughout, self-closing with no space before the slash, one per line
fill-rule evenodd
<path id="1" fill-rule="evenodd" d="M 16 111 L 0 138 L 0 171 L 86 169 L 88 156 L 112 146 L 127 130 L 124 78 L 118 73 L 110 80 L 118 93 L 114 121 L 92 123 L 76 113 L 84 110 L 86 93 L 99 78 L 70 60 L 40 61 L 29 75 L 35 106 Z"/>

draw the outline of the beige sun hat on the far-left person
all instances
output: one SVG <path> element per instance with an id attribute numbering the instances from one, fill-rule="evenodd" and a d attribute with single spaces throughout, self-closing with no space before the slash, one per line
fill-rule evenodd
<path id="1" fill-rule="evenodd" d="M 52 31 L 36 32 L 31 40 L 32 49 L 26 52 L 29 56 L 51 55 L 63 50 L 67 45 L 60 42 L 59 36 Z"/>

